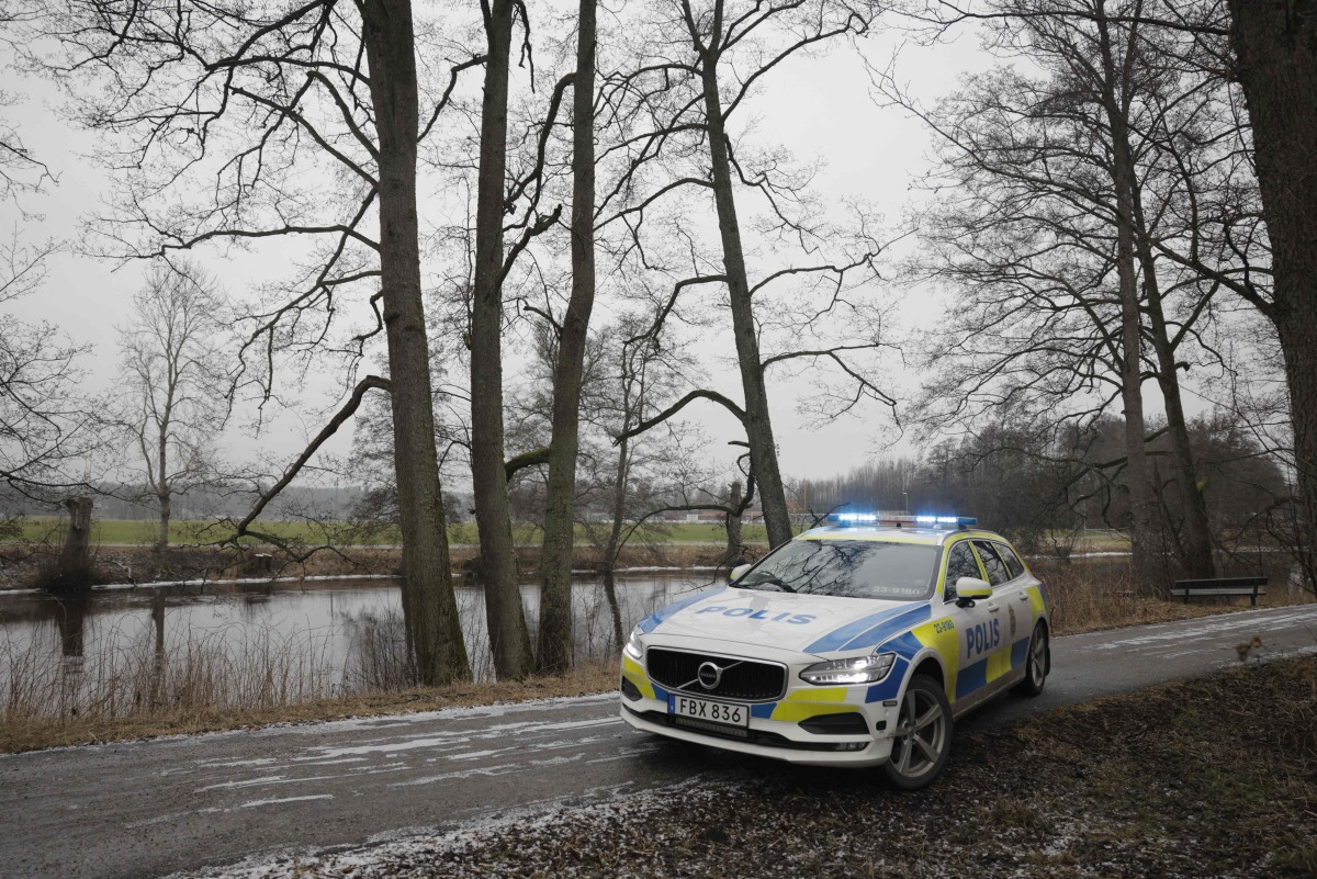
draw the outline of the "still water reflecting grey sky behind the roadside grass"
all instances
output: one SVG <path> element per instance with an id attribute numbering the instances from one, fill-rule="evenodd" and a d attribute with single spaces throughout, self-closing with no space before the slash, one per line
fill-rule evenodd
<path id="1" fill-rule="evenodd" d="M 572 595 L 577 659 L 616 655 L 637 620 L 709 583 L 709 575 L 681 572 L 578 578 Z M 491 679 L 483 592 L 468 586 L 456 593 L 471 671 Z M 522 600 L 533 638 L 537 584 L 524 584 Z M 212 583 L 109 590 L 76 600 L 0 593 L 0 687 L 45 676 L 49 682 L 38 683 L 51 690 L 91 692 L 113 679 L 125 697 L 154 703 L 161 687 L 171 686 L 170 675 L 257 687 L 261 675 L 287 678 L 290 667 L 327 691 L 316 695 L 408 686 L 414 675 L 398 582 Z"/>

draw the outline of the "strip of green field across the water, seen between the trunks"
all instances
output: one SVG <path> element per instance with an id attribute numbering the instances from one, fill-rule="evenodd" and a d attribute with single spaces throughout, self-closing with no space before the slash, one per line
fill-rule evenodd
<path id="1" fill-rule="evenodd" d="M 24 541 L 63 541 L 66 521 L 58 517 L 32 516 L 21 521 L 21 540 Z M 92 522 L 94 543 L 126 543 L 149 545 L 155 542 L 158 524 L 149 520 L 104 518 Z M 274 534 L 282 540 L 300 541 L 303 543 L 335 543 L 335 545 L 366 545 L 389 546 L 402 541 L 396 529 L 361 532 L 349 524 L 325 524 L 324 526 L 311 522 L 258 522 L 257 530 Z M 601 530 L 603 525 L 595 526 Z M 577 541 L 589 542 L 585 528 L 577 525 Z M 202 521 L 176 521 L 170 525 L 171 543 L 213 543 L 223 541 L 233 533 L 232 528 Z M 539 543 L 540 529 L 533 525 L 518 524 L 512 526 L 512 536 L 518 543 Z M 727 540 L 722 525 L 664 525 L 645 529 L 645 537 L 661 540 L 672 543 L 720 543 Z M 745 525 L 741 529 L 741 540 L 751 543 L 763 543 L 766 537 L 763 525 Z M 450 543 L 477 543 L 474 522 L 461 522 L 448 528 L 448 541 Z"/>

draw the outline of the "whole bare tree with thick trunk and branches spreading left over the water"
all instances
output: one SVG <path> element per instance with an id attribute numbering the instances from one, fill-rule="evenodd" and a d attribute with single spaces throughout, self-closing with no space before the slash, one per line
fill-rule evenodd
<path id="1" fill-rule="evenodd" d="M 269 401 L 281 358 L 308 368 L 313 358 L 337 357 L 348 399 L 234 524 L 237 536 L 278 541 L 257 530 L 257 516 L 366 393 L 389 392 L 408 645 L 421 683 L 468 676 L 435 451 L 416 154 L 461 71 L 481 58 L 436 42 L 428 49 L 445 61 L 419 70 L 407 0 L 269 8 L 66 0 L 41 26 L 59 51 L 36 61 L 70 86 L 80 118 L 111 136 L 104 158 L 122 192 L 117 209 L 92 222 L 101 255 L 316 242 L 273 307 L 250 316 L 234 380 Z M 433 97 L 423 97 L 423 76 Z M 308 188 L 307 174 L 317 186 Z M 335 338 L 345 301 L 374 325 Z M 365 346 L 381 336 L 389 378 L 358 380 Z"/>

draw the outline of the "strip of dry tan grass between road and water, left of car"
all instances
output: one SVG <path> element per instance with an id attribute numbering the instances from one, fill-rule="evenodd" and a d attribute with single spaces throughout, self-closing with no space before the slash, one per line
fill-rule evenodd
<path id="1" fill-rule="evenodd" d="M 612 690 L 616 687 L 616 679 L 615 661 L 594 661 L 561 678 L 535 676 L 522 682 L 498 683 L 466 682 L 446 687 L 363 692 L 266 707 L 227 708 L 221 704 L 199 704 L 115 718 L 87 715 L 63 715 L 57 718 L 7 716 L 0 724 L 0 753 L 209 733 L 270 724 L 304 724 L 461 705 L 585 696 Z"/>

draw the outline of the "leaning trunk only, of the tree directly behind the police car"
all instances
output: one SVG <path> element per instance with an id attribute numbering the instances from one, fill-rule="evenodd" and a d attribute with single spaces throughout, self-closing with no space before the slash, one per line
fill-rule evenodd
<path id="1" fill-rule="evenodd" d="M 727 155 L 727 132 L 723 124 L 722 96 L 718 92 L 718 54 L 703 57 L 705 116 L 709 130 L 709 159 L 714 175 L 714 201 L 718 207 L 718 230 L 723 242 L 723 266 L 727 272 L 727 296 L 732 309 L 732 333 L 740 362 L 741 387 L 745 393 L 745 438 L 749 441 L 751 463 L 759 480 L 764 507 L 764 525 L 769 546 L 792 540 L 792 517 L 786 508 L 782 474 L 777 466 L 777 443 L 768 412 L 768 389 L 759 355 L 759 336 L 751 303 L 745 254 L 741 250 L 740 224 L 732 187 L 731 161 Z"/>

